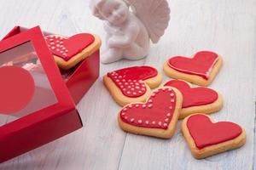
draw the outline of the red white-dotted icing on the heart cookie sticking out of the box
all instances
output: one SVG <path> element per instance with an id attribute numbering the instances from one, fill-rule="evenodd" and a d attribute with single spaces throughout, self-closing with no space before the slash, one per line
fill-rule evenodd
<path id="1" fill-rule="evenodd" d="M 88 47 L 95 38 L 91 34 L 81 33 L 73 37 L 50 35 L 45 40 L 52 54 L 67 61 Z"/>

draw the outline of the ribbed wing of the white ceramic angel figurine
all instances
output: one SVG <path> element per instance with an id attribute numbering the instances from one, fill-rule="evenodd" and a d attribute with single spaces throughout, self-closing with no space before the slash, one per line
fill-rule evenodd
<path id="1" fill-rule="evenodd" d="M 166 0 L 126 0 L 143 22 L 152 42 L 159 42 L 169 25 L 170 8 Z"/>

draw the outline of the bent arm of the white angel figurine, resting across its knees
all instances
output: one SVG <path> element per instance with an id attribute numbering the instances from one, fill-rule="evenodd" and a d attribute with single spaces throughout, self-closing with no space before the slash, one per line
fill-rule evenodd
<path id="1" fill-rule="evenodd" d="M 125 29 L 124 36 L 113 35 L 108 40 L 108 46 L 110 48 L 127 48 L 131 46 L 132 42 L 135 42 L 139 31 L 139 26 L 133 22 Z"/>

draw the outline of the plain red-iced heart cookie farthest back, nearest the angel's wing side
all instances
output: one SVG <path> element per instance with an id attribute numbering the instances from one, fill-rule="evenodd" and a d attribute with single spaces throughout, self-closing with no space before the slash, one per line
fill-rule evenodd
<path id="1" fill-rule="evenodd" d="M 220 55 L 210 51 L 200 51 L 193 58 L 175 56 L 168 59 L 164 71 L 169 77 L 207 86 L 216 77 L 221 65 Z"/>

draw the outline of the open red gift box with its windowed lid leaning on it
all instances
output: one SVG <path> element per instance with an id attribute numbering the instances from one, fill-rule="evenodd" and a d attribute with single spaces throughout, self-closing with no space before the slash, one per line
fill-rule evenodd
<path id="1" fill-rule="evenodd" d="M 99 49 L 63 79 L 44 40 L 49 34 L 16 26 L 0 42 L 0 114 L 17 117 L 0 127 L 0 162 L 83 126 L 75 104 L 99 76 Z"/>

